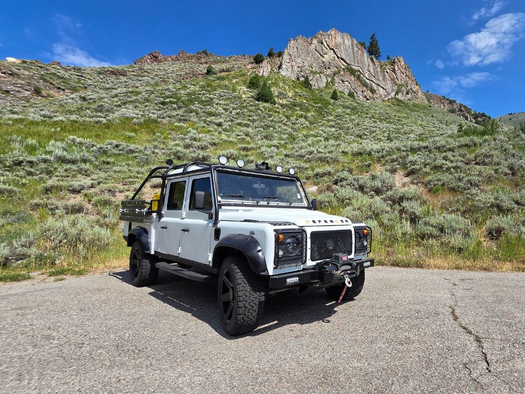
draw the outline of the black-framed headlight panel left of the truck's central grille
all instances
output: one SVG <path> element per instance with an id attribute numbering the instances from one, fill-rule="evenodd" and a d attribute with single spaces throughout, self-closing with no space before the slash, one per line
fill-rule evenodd
<path id="1" fill-rule="evenodd" d="M 278 241 L 279 234 L 283 240 Z M 283 229 L 276 231 L 275 266 L 289 267 L 304 264 L 306 261 L 306 234 L 296 229 Z"/>

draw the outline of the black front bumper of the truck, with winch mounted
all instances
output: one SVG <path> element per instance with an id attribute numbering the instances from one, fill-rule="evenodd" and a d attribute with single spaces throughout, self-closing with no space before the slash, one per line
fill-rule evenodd
<path id="1" fill-rule="evenodd" d="M 325 272 L 320 269 L 303 269 L 303 271 L 290 272 L 287 274 L 269 277 L 268 287 L 270 289 L 283 289 L 298 285 L 328 287 L 344 282 L 344 276 L 355 278 L 361 273 L 362 269 L 373 267 L 374 259 L 349 261 L 345 263 L 339 271 Z"/>

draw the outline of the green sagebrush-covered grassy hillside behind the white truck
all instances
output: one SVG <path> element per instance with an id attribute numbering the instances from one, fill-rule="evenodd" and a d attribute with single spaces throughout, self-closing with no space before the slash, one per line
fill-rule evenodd
<path id="1" fill-rule="evenodd" d="M 119 201 L 168 157 L 218 154 L 296 167 L 321 210 L 374 228 L 380 264 L 525 271 L 523 132 L 278 74 L 277 104 L 260 103 L 246 60 L 213 61 L 227 72 L 0 62 L 69 92 L 0 107 L 2 280 L 125 265 Z"/>

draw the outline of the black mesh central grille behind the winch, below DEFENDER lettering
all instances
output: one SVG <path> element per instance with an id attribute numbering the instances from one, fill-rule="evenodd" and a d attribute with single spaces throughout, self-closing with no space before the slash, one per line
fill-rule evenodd
<path id="1" fill-rule="evenodd" d="M 352 254 L 352 230 L 313 231 L 310 234 L 310 260 L 328 260 L 335 253 Z"/>

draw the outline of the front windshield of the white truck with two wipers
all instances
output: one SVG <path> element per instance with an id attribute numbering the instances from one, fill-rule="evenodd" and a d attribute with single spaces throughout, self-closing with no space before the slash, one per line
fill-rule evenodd
<path id="1" fill-rule="evenodd" d="M 217 183 L 221 200 L 246 204 L 304 205 L 304 195 L 295 179 L 217 172 Z"/>

